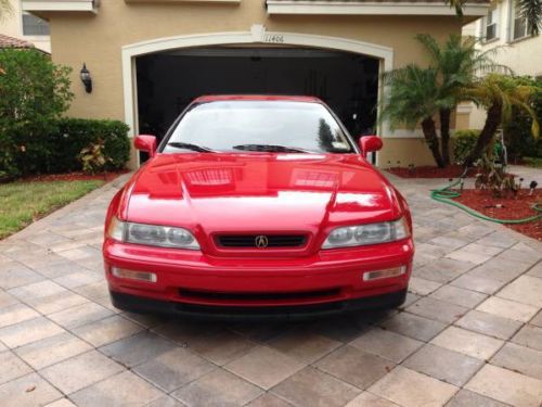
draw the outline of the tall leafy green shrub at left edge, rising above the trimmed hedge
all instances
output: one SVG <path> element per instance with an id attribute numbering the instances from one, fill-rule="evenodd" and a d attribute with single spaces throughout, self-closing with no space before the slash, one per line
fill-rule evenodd
<path id="1" fill-rule="evenodd" d="M 70 68 L 55 65 L 37 50 L 0 50 L 0 171 L 29 174 L 37 155 L 47 155 L 41 138 L 69 106 Z"/>

